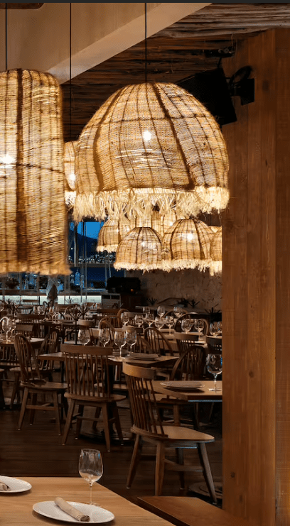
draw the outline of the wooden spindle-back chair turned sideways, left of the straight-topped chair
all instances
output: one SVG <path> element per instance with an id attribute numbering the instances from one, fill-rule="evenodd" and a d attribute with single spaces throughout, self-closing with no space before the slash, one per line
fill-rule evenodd
<path id="1" fill-rule="evenodd" d="M 55 413 L 55 420 L 58 426 L 58 434 L 61 434 L 60 427 L 60 405 L 65 407 L 64 394 L 67 389 L 65 383 L 45 382 L 41 377 L 41 371 L 38 368 L 38 362 L 34 349 L 30 342 L 21 334 L 16 334 L 14 346 L 18 356 L 18 362 L 21 370 L 21 387 L 23 387 L 23 398 L 21 410 L 18 420 L 18 429 L 20 430 L 23 424 L 23 418 L 27 409 L 31 410 L 30 424 L 33 424 L 34 414 L 36 410 L 53 411 Z M 28 396 L 31 400 L 28 401 Z M 38 395 L 50 395 L 53 399 L 53 406 L 38 403 Z M 61 397 L 60 404 L 58 402 L 58 395 Z"/>

